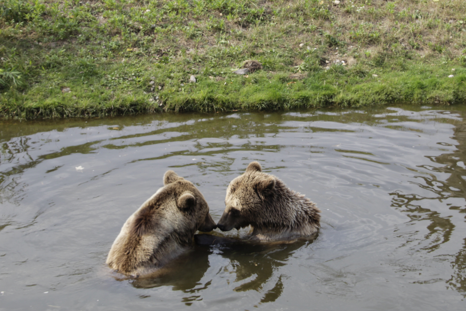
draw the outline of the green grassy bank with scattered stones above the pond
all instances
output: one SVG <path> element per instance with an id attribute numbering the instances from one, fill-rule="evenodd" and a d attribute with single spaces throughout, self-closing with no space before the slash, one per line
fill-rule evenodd
<path id="1" fill-rule="evenodd" d="M 466 103 L 464 0 L 0 0 L 2 117 L 400 101 Z"/>

